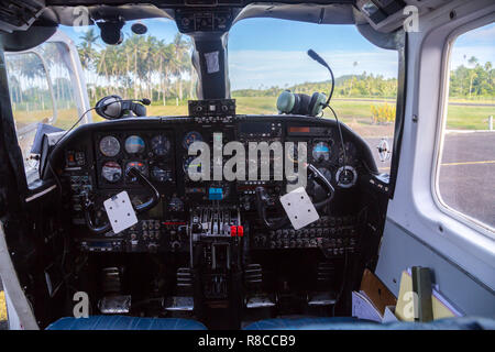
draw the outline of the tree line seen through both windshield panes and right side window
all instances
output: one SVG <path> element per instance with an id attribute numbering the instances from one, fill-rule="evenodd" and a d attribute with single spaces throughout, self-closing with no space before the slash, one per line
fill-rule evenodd
<path id="1" fill-rule="evenodd" d="M 88 92 L 92 101 L 111 94 L 123 98 L 151 98 L 166 105 L 167 99 L 195 99 L 196 72 L 191 65 L 191 43 L 177 33 L 170 43 L 153 35 L 128 36 L 120 45 L 99 45 L 94 29 L 80 36 L 79 57 L 86 70 Z M 295 92 L 328 92 L 331 81 L 304 82 L 294 86 L 260 86 L 256 89 L 238 89 L 233 97 L 276 97 L 284 89 Z M 471 57 L 450 75 L 450 96 L 474 99 L 492 98 L 494 68 L 491 62 L 480 64 Z M 345 75 L 336 79 L 334 97 L 395 99 L 397 79 L 382 75 Z"/>

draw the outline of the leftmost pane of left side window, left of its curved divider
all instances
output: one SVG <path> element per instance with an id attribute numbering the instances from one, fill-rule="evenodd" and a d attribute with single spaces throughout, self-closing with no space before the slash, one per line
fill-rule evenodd
<path id="1" fill-rule="evenodd" d="M 36 168 L 30 156 L 37 124 L 52 123 L 56 118 L 53 87 L 46 64 L 37 53 L 8 53 L 6 61 L 18 142 L 29 175 Z"/>

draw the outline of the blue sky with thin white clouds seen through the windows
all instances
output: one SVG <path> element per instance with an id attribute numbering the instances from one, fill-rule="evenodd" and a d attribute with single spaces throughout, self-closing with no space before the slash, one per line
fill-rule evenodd
<path id="1" fill-rule="evenodd" d="M 143 20 L 150 34 L 172 42 L 177 33 L 175 22 L 167 19 Z M 130 35 L 131 23 L 124 35 Z M 63 26 L 76 44 L 88 28 Z M 495 64 L 495 24 L 463 34 L 452 51 L 452 67 L 471 56 L 481 63 Z M 326 25 L 278 19 L 246 19 L 229 33 L 229 76 L 231 89 L 286 87 L 306 81 L 329 79 L 326 68 L 310 59 L 306 52 L 315 50 L 332 67 L 336 77 L 363 72 L 397 77 L 397 53 L 374 46 L 354 25 Z M 465 55 L 465 57 L 464 57 Z"/>

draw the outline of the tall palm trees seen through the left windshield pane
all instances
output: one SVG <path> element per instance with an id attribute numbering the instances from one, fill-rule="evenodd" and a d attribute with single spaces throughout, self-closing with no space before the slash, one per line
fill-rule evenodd
<path id="1" fill-rule="evenodd" d="M 108 95 L 150 98 L 166 105 L 167 99 L 195 97 L 196 73 L 191 43 L 177 33 L 170 43 L 153 35 L 127 36 L 120 45 L 100 45 L 94 29 L 77 45 L 86 72 L 88 94 L 95 101 Z"/>

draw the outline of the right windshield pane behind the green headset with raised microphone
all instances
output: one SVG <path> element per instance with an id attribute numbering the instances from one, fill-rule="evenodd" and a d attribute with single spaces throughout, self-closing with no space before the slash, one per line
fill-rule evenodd
<path id="1" fill-rule="evenodd" d="M 312 61 L 316 51 L 333 70 L 331 107 L 365 139 L 378 169 L 388 173 L 396 116 L 398 55 L 365 40 L 354 25 L 249 19 L 229 33 L 229 76 L 239 113 L 278 113 L 284 90 L 327 96 L 330 74 Z M 329 110 L 323 118 L 333 119 Z M 387 143 L 382 156 L 377 147 Z"/>

